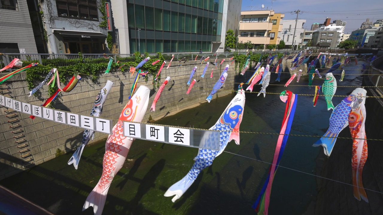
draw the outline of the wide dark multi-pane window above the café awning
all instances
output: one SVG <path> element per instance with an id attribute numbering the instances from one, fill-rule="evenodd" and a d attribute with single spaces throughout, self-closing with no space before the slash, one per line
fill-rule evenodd
<path id="1" fill-rule="evenodd" d="M 57 0 L 56 5 L 59 16 L 98 21 L 96 0 Z"/>

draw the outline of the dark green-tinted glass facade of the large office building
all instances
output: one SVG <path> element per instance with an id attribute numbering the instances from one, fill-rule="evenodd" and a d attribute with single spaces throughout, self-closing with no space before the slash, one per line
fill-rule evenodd
<path id="1" fill-rule="evenodd" d="M 210 52 L 221 42 L 223 0 L 128 0 L 127 8 L 130 53 Z"/>

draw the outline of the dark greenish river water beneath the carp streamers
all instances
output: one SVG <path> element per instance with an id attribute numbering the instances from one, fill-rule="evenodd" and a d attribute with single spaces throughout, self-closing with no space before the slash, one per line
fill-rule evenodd
<path id="1" fill-rule="evenodd" d="M 352 62 L 345 68 L 355 70 L 346 70 L 346 73 L 360 74 L 361 67 Z M 272 73 L 271 80 L 276 77 L 277 74 Z M 343 82 L 339 82 L 339 78 L 340 75 L 337 75 L 338 86 L 360 86 L 362 83 L 362 75 L 345 75 Z M 322 85 L 323 80 L 316 76 L 313 85 Z M 285 83 L 286 80 L 282 80 L 277 84 Z M 308 76 L 305 75 L 300 83 L 296 83 L 295 79 L 290 85 L 307 84 Z M 354 89 L 338 87 L 336 95 L 346 96 Z M 259 85 L 254 87 L 254 91 L 259 90 Z M 284 90 L 296 94 L 314 94 L 315 88 L 272 85 L 267 88 L 268 93 L 281 93 Z M 155 123 L 209 129 L 233 97 L 234 94 L 214 98 L 211 103 L 203 103 Z M 343 98 L 334 97 L 334 106 Z M 240 130 L 279 133 L 284 111 L 285 103 L 277 94 L 267 94 L 263 98 L 262 95 L 257 97 L 256 93 L 246 93 Z M 328 128 L 330 115 L 324 96 L 319 97 L 316 107 L 313 107 L 313 96 L 298 96 L 290 134 L 323 135 Z M 188 173 L 198 149 L 135 140 L 123 168 L 110 186 L 103 214 L 255 214 L 251 206 L 265 182 L 270 166 L 261 161 L 272 162 L 278 135 L 241 133 L 240 137 L 240 145 L 232 141 L 225 151 L 242 156 L 222 153 L 175 203 L 171 201 L 172 197 L 164 197 L 163 194 Z M 317 137 L 290 136 L 280 165 L 316 174 L 316 158 L 323 153 L 322 147 L 312 147 L 316 140 Z M 78 170 L 67 165 L 72 155 L 68 153 L 4 179 L 0 184 L 56 214 L 93 214 L 92 209 L 81 210 L 87 195 L 100 179 L 104 152 L 105 140 L 84 149 Z M 316 201 L 316 196 L 315 176 L 278 168 L 269 214 L 313 214 L 308 208 L 310 203 Z"/>

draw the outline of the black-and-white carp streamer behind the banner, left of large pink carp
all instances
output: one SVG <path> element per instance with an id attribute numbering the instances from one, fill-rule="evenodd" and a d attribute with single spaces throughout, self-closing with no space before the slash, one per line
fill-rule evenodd
<path id="1" fill-rule="evenodd" d="M 106 96 L 108 96 L 108 93 L 110 89 L 112 88 L 113 82 L 112 81 L 106 81 L 106 85 L 100 90 L 96 97 L 96 101 L 93 104 L 92 111 L 90 111 L 90 116 L 99 117 L 102 111 L 102 106 L 106 100 Z M 68 165 L 71 165 L 73 163 L 73 166 L 75 169 L 79 166 L 80 158 L 82 151 L 84 150 L 84 147 L 88 144 L 90 138 L 93 137 L 93 134 L 95 133 L 94 130 L 88 130 L 85 129 L 84 133 L 82 134 L 82 140 L 81 145 L 77 150 L 73 153 L 72 157 L 70 157 L 68 161 Z"/>

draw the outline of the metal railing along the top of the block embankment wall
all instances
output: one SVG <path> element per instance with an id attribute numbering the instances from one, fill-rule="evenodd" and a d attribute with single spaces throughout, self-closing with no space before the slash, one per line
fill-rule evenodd
<path id="1" fill-rule="evenodd" d="M 253 49 L 251 50 L 254 52 L 283 52 L 283 51 L 291 51 L 291 49 L 277 49 L 275 51 L 273 50 L 263 50 L 263 49 Z M 249 52 L 249 50 L 236 50 L 233 52 L 187 52 L 187 53 L 161 53 L 165 60 L 169 61 L 172 59 L 172 55 L 174 55 L 173 60 L 194 60 L 195 57 L 198 55 L 198 59 L 200 57 L 205 56 L 211 56 L 211 58 L 230 58 L 234 56 L 234 53 L 238 54 L 246 54 Z M 0 67 L 4 67 L 5 65 L 8 65 L 14 58 L 18 58 L 24 63 L 29 62 L 38 62 L 40 65 L 44 66 L 52 66 L 52 67 L 64 67 L 69 65 L 76 65 L 79 63 L 108 63 L 109 59 L 105 58 L 104 54 L 81 54 L 82 57 L 79 54 L 18 54 L 18 53 L 2 53 L 0 56 Z M 113 57 L 113 61 L 117 62 L 134 62 L 135 61 L 135 55 L 134 54 L 108 54 L 108 56 Z M 157 58 L 157 53 L 151 53 L 149 54 L 149 57 L 151 58 Z M 8 69 L 8 71 L 3 72 L 11 72 L 11 69 Z"/>

